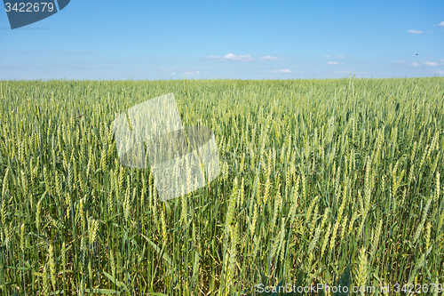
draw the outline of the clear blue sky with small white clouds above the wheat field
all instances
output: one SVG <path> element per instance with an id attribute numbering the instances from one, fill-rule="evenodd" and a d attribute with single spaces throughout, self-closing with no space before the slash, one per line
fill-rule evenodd
<path id="1" fill-rule="evenodd" d="M 444 76 L 444 1 L 72 0 L 14 30 L 0 12 L 0 79 L 289 79 L 350 72 Z"/>

